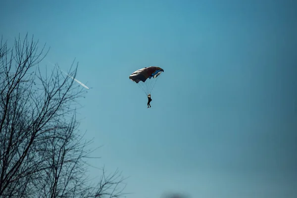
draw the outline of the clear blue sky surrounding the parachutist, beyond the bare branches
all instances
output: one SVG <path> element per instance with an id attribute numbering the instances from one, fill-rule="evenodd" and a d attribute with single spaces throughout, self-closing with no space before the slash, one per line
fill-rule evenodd
<path id="1" fill-rule="evenodd" d="M 2 0 L 0 34 L 34 34 L 42 65 L 92 89 L 90 163 L 119 168 L 129 198 L 297 196 L 297 3 L 293 0 Z M 164 73 L 147 98 L 129 75 Z M 99 175 L 91 169 L 90 174 Z"/>

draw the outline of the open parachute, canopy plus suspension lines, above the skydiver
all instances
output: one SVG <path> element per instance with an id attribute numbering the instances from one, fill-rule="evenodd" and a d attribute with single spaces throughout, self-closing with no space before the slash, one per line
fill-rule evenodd
<path id="1" fill-rule="evenodd" d="M 133 72 L 129 78 L 145 92 L 146 96 L 151 93 L 158 76 L 164 72 L 160 67 L 150 66 Z"/>

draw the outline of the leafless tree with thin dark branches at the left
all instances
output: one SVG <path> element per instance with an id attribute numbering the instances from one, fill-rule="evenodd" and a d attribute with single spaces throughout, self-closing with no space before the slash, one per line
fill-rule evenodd
<path id="1" fill-rule="evenodd" d="M 48 51 L 33 37 L 0 45 L 0 197 L 123 196 L 119 172 L 103 171 L 97 184 L 86 175 L 91 142 L 78 132 L 75 108 L 84 88 L 57 69 L 43 73 L 38 65 Z M 76 72 L 77 65 L 69 71 Z"/>

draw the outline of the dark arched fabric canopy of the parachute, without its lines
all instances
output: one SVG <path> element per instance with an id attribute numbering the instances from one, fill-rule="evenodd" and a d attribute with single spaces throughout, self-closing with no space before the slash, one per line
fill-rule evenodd
<path id="1" fill-rule="evenodd" d="M 146 82 L 148 78 L 149 79 L 151 79 L 151 77 L 156 78 L 158 75 L 160 75 L 161 72 L 164 72 L 164 70 L 160 67 L 155 67 L 155 66 L 145 67 L 133 72 L 129 76 L 129 78 L 130 80 L 136 83 L 139 83 L 140 81 Z"/>

